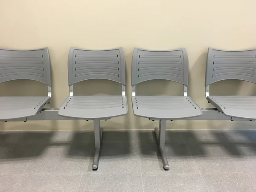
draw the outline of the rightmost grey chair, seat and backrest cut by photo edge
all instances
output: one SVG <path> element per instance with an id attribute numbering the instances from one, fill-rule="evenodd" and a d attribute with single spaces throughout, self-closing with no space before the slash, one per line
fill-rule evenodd
<path id="1" fill-rule="evenodd" d="M 208 50 L 205 95 L 209 103 L 232 118 L 256 119 L 256 96 L 209 96 L 209 85 L 227 79 L 256 83 L 256 50 Z"/>

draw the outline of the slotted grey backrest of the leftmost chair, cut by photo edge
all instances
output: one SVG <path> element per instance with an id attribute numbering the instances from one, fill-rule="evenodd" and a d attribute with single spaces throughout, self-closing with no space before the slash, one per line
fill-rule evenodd
<path id="1" fill-rule="evenodd" d="M 17 79 L 40 81 L 51 86 L 48 48 L 0 49 L 0 83 Z"/>

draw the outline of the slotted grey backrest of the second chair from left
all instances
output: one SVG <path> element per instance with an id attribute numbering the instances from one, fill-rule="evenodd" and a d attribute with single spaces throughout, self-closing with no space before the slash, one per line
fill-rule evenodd
<path id="1" fill-rule="evenodd" d="M 125 85 L 123 49 L 87 50 L 72 47 L 68 57 L 69 86 L 88 79 L 108 79 Z"/>

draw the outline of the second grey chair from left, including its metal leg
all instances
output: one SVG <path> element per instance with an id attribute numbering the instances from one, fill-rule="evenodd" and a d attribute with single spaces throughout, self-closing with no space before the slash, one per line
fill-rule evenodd
<path id="1" fill-rule="evenodd" d="M 107 79 L 122 84 L 120 96 L 73 96 L 73 84 L 88 79 Z M 93 120 L 95 154 L 93 170 L 98 169 L 103 129 L 100 120 L 127 114 L 125 96 L 125 55 L 122 48 L 86 50 L 71 48 L 68 57 L 70 96 L 58 115 Z"/>

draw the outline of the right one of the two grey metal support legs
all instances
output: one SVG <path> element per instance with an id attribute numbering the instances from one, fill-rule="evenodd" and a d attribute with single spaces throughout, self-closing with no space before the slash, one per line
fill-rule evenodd
<path id="1" fill-rule="evenodd" d="M 155 134 L 157 137 L 157 143 L 158 143 L 158 148 L 162 157 L 163 161 L 163 169 L 168 170 L 169 169 L 169 164 L 166 158 L 166 153 L 164 151 L 164 145 L 165 145 L 165 133 L 166 133 L 166 120 L 161 119 L 159 121 L 159 129 L 156 127 L 155 129 Z"/>

